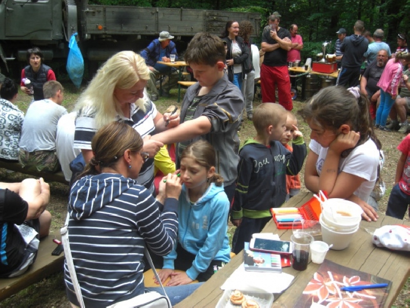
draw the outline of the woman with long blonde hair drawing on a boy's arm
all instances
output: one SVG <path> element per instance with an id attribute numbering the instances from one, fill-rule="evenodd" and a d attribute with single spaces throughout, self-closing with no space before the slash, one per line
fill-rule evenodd
<path id="1" fill-rule="evenodd" d="M 145 90 L 149 80 L 149 69 L 139 54 L 121 51 L 108 59 L 75 106 L 74 148 L 81 149 L 88 163 L 93 156 L 91 140 L 98 129 L 113 121 L 132 126 L 144 138 L 142 151 L 149 153 L 138 183 L 154 192 L 154 156 L 163 144 L 150 140 L 150 135 L 177 126 L 179 116 L 157 111 Z"/>

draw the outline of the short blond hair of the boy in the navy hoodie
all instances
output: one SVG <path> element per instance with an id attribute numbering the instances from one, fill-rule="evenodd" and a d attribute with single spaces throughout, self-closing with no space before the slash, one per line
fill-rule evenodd
<path id="1" fill-rule="evenodd" d="M 286 109 L 279 104 L 260 104 L 255 108 L 252 119 L 256 132 L 262 134 L 268 126 L 276 127 L 283 114 L 286 114 Z"/>

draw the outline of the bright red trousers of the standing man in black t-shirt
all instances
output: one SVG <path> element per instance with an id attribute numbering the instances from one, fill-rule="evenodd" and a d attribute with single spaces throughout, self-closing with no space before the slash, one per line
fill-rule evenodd
<path id="1" fill-rule="evenodd" d="M 278 87 L 279 104 L 292 110 L 291 81 L 288 66 L 267 66 L 260 68 L 260 89 L 262 103 L 276 103 L 275 85 Z"/>

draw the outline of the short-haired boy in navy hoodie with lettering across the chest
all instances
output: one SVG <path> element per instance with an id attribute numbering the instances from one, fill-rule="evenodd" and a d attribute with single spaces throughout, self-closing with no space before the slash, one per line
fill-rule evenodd
<path id="1" fill-rule="evenodd" d="M 279 104 L 260 104 L 254 112 L 256 137 L 239 150 L 238 178 L 231 220 L 237 227 L 232 251 L 238 254 L 252 234 L 259 233 L 272 219 L 271 207 L 286 198 L 286 175 L 297 175 L 306 157 L 306 144 L 296 126 L 293 152 L 280 139 L 285 130 L 286 110 Z"/>

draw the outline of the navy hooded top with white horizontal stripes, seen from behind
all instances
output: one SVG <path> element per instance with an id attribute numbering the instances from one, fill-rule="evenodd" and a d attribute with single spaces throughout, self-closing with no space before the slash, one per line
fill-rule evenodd
<path id="1" fill-rule="evenodd" d="M 176 199 L 162 213 L 150 192 L 118 174 L 74 183 L 68 205 L 69 241 L 87 307 L 107 306 L 144 292 L 144 246 L 165 256 L 177 235 Z M 77 303 L 65 264 L 69 300 Z M 77 303 L 78 304 L 78 303 Z"/>

